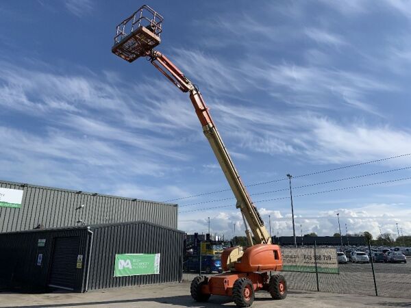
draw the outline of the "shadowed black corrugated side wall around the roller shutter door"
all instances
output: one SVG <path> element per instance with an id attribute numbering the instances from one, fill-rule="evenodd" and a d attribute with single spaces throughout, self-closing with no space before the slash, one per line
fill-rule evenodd
<path id="1" fill-rule="evenodd" d="M 78 255 L 87 255 L 88 231 L 86 227 L 73 229 L 32 230 L 0 234 L 0 286 L 44 289 L 49 283 L 49 269 L 53 261 L 55 238 L 77 237 Z M 44 247 L 38 240 L 46 240 Z M 37 265 L 42 254 L 41 266 Z M 84 264 L 85 265 L 85 264 Z M 75 266 L 75 264 L 74 264 Z M 75 270 L 75 291 L 82 292 L 85 268 Z"/>

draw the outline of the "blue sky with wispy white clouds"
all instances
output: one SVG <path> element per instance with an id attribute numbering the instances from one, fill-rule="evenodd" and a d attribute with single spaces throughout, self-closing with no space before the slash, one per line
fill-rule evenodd
<path id="1" fill-rule="evenodd" d="M 1 3 L 0 178 L 155 201 L 226 190 L 188 95 L 110 52 L 142 5 L 116 3 Z M 408 1 L 147 4 L 164 16 L 158 49 L 198 84 L 247 185 L 411 153 Z M 333 234 L 336 213 L 349 232 L 398 222 L 410 234 L 410 180 L 298 196 L 404 179 L 410 166 L 407 155 L 293 179 L 297 234 Z M 287 187 L 249 187 L 273 234 L 292 232 Z M 208 209 L 232 196 L 173 201 L 179 229 L 206 232 L 210 217 L 213 232 L 242 234 L 234 207 Z"/>

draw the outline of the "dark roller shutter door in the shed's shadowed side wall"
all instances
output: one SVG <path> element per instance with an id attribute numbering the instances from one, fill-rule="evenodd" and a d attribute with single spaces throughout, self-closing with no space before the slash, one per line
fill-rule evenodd
<path id="1" fill-rule="evenodd" d="M 55 238 L 49 286 L 74 290 L 79 238 Z"/>

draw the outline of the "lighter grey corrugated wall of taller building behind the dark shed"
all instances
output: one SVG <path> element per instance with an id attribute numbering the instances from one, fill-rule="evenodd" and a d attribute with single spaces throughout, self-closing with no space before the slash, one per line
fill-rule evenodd
<path id="1" fill-rule="evenodd" d="M 145 220 L 177 229 L 177 205 L 0 181 L 24 190 L 21 208 L 0 207 L 0 232 Z M 84 207 L 81 207 L 84 205 Z"/>

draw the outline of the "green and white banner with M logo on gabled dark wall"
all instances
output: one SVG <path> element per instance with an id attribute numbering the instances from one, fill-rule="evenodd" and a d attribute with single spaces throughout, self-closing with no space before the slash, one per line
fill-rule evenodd
<path id="1" fill-rule="evenodd" d="M 116 255 L 114 277 L 160 273 L 160 253 L 125 253 Z"/>

